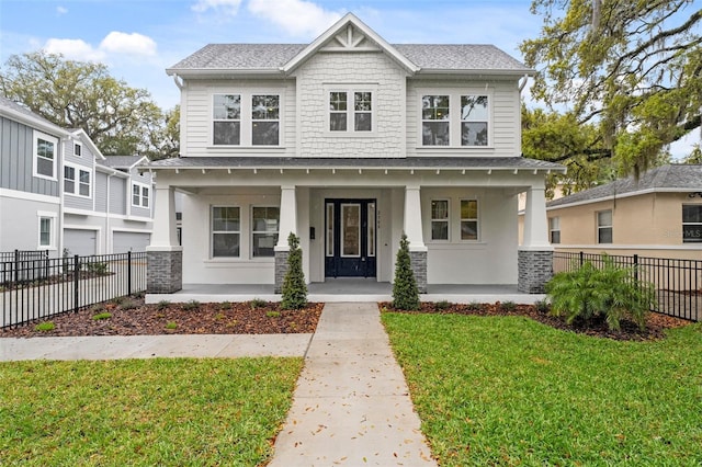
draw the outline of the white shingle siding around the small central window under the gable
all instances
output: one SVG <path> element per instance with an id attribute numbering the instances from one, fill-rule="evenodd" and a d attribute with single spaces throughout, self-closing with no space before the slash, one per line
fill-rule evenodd
<path id="1" fill-rule="evenodd" d="M 303 64 L 295 76 L 299 157 L 405 157 L 405 139 L 399 129 L 405 119 L 406 73 L 389 57 L 382 53 L 320 53 Z M 351 91 L 354 86 L 376 86 L 374 134 L 330 134 L 325 86 Z"/>

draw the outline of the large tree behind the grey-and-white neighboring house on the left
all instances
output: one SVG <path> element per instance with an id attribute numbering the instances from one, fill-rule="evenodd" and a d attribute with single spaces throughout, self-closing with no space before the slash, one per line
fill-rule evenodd
<path id="1" fill-rule="evenodd" d="M 156 152 L 166 125 L 148 91 L 128 87 L 103 64 L 35 52 L 13 55 L 0 92 L 64 128 L 82 128 L 104 155 Z"/>

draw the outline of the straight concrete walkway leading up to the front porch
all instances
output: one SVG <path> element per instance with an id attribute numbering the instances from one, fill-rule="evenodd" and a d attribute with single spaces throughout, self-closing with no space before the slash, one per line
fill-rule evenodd
<path id="1" fill-rule="evenodd" d="M 376 304 L 327 304 L 270 467 L 435 466 Z"/>

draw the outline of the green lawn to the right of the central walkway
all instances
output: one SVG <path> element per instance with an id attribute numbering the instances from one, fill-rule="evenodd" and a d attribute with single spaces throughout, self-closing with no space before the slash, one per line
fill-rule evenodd
<path id="1" fill-rule="evenodd" d="M 702 326 L 615 342 L 521 317 L 384 314 L 444 466 L 702 463 Z"/>

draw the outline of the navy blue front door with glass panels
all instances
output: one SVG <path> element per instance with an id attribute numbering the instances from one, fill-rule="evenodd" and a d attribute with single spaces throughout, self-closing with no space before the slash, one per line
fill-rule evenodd
<path id="1" fill-rule="evenodd" d="M 326 200 L 327 277 L 375 277 L 375 200 Z"/>

